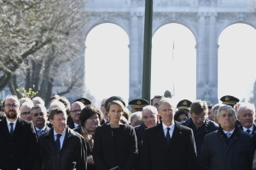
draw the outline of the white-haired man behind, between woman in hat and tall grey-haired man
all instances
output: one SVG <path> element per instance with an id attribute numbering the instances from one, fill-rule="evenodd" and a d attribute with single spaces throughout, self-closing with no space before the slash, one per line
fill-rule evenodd
<path id="1" fill-rule="evenodd" d="M 144 132 L 148 127 L 154 127 L 158 121 L 158 112 L 153 105 L 147 105 L 143 107 L 143 123 L 134 127 L 136 136 L 137 136 L 137 150 L 138 150 L 138 161 L 137 161 L 137 168 L 140 169 L 140 158 L 141 158 L 141 151 L 143 147 L 143 136 Z"/>

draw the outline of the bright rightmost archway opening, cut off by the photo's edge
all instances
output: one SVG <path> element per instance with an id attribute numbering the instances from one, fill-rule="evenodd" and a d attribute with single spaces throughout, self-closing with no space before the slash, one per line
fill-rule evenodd
<path id="1" fill-rule="evenodd" d="M 234 24 L 218 38 L 218 99 L 233 95 L 242 100 L 252 96 L 256 80 L 256 31 L 247 24 Z"/>

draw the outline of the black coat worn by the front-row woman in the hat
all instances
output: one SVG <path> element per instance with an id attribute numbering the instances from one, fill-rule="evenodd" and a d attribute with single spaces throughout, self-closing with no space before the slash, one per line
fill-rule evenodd
<path id="1" fill-rule="evenodd" d="M 93 159 L 96 169 L 108 170 L 119 166 L 122 170 L 132 170 L 137 162 L 137 137 L 134 128 L 128 124 L 119 125 L 118 144 L 114 145 L 109 124 L 96 127 Z"/>

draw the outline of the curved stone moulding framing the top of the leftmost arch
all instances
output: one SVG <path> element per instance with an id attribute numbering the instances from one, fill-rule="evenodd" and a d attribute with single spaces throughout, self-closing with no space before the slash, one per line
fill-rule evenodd
<path id="1" fill-rule="evenodd" d="M 124 22 L 116 20 L 116 19 L 105 19 L 105 18 L 99 18 L 97 20 L 90 20 L 87 24 L 86 27 L 84 27 L 84 34 L 85 34 L 85 39 L 84 42 L 86 41 L 86 37 L 89 34 L 89 32 L 96 26 L 99 26 L 101 24 L 114 24 L 116 26 L 121 27 L 125 33 L 127 34 L 128 38 L 129 38 L 129 43 L 131 42 L 131 33 L 129 31 L 129 26 L 126 26 L 124 24 Z"/>

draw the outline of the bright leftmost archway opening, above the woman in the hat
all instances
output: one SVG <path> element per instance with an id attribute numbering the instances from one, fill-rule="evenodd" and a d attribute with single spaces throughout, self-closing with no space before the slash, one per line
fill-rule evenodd
<path id="1" fill-rule="evenodd" d="M 129 37 L 114 24 L 95 26 L 86 37 L 85 86 L 98 102 L 129 97 Z"/>

